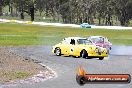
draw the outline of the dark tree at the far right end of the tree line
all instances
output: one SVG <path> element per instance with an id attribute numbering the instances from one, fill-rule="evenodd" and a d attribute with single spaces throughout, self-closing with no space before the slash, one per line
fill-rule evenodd
<path id="1" fill-rule="evenodd" d="M 132 19 L 132 1 L 131 0 L 114 0 L 116 16 L 122 26 L 128 26 Z"/>

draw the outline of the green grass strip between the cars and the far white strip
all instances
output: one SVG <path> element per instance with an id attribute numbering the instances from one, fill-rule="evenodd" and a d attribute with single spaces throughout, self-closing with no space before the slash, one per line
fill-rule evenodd
<path id="1" fill-rule="evenodd" d="M 102 35 L 116 45 L 132 45 L 132 30 L 81 29 L 70 27 L 0 24 L 0 46 L 54 45 L 70 36 Z"/>

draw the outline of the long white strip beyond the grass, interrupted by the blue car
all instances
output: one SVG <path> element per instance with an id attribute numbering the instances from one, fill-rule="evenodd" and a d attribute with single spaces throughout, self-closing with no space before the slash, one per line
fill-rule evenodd
<path id="1" fill-rule="evenodd" d="M 20 21 L 20 20 L 8 20 L 8 19 L 0 19 L 0 22 L 15 22 L 20 24 L 35 24 L 35 25 L 42 25 L 42 26 L 58 26 L 58 27 L 74 27 L 80 28 L 80 25 L 77 24 L 63 24 L 63 23 L 47 23 L 47 22 L 31 22 L 31 21 Z M 114 29 L 114 30 L 131 30 L 132 27 L 123 27 L 123 26 L 96 26 L 90 25 L 91 28 L 95 29 Z"/>

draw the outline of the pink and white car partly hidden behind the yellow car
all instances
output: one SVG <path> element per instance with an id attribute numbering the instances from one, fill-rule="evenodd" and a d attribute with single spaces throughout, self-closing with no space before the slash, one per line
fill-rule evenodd
<path id="1" fill-rule="evenodd" d="M 112 43 L 109 42 L 107 37 L 104 36 L 89 36 L 87 38 L 89 41 L 91 41 L 96 46 L 104 47 L 108 51 L 112 49 Z"/>

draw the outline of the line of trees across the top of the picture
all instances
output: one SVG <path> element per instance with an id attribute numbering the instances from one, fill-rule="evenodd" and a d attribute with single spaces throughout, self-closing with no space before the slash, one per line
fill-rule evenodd
<path id="1" fill-rule="evenodd" d="M 119 21 L 120 25 L 128 26 L 132 19 L 132 0 L 0 0 L 0 16 L 5 6 L 9 7 L 11 16 L 24 19 L 27 13 L 31 21 L 37 12 L 52 17 L 53 21 L 76 24 L 94 24 L 96 19 L 98 25 Z"/>

